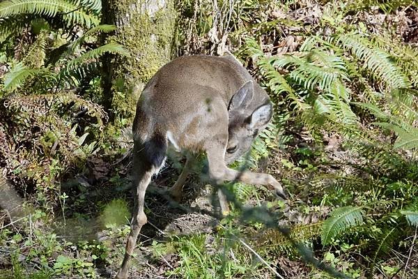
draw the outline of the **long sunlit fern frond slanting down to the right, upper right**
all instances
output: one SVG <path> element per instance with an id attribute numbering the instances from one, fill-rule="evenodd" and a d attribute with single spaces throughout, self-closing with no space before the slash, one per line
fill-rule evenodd
<path id="1" fill-rule="evenodd" d="M 363 67 L 376 79 L 384 82 L 389 88 L 408 88 L 408 77 L 389 60 L 389 54 L 381 49 L 373 49 L 364 38 L 359 35 L 341 35 L 336 40 L 345 50 L 350 50 L 358 59 L 363 61 Z"/>

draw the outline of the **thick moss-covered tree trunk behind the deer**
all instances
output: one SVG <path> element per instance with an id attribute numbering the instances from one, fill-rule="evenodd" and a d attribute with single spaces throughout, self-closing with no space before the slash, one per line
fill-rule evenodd
<path id="1" fill-rule="evenodd" d="M 109 121 L 121 124 L 134 116 L 146 82 L 171 60 L 176 13 L 173 0 L 102 0 L 102 23 L 116 25 L 104 40 L 120 43 L 130 57 L 103 59 L 102 88 Z"/>

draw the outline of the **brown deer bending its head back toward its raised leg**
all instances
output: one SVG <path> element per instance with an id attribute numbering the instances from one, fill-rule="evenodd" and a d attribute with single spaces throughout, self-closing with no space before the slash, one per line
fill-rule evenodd
<path id="1" fill-rule="evenodd" d="M 185 167 L 170 192 L 180 200 L 196 153 L 206 153 L 211 181 L 242 181 L 274 188 L 286 199 L 281 183 L 270 174 L 228 167 L 249 151 L 258 133 L 272 119 L 272 102 L 232 55 L 181 56 L 162 66 L 148 81 L 132 124 L 132 179 L 135 206 L 125 256 L 116 278 L 127 278 L 130 258 L 141 227 L 146 188 L 167 158 L 169 146 L 188 151 Z M 192 155 L 190 155 L 192 154 Z M 218 190 L 222 212 L 229 211 Z"/>

